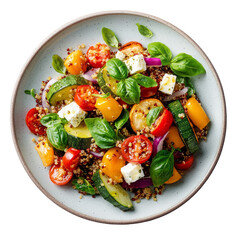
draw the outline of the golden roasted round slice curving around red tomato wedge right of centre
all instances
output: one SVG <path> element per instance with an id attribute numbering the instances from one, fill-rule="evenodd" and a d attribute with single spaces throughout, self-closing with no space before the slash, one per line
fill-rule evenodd
<path id="1" fill-rule="evenodd" d="M 148 98 L 140 101 L 140 103 L 135 104 L 130 111 L 130 123 L 134 132 L 143 130 L 147 126 L 146 117 L 150 109 L 163 106 L 163 104 L 154 98 Z"/>

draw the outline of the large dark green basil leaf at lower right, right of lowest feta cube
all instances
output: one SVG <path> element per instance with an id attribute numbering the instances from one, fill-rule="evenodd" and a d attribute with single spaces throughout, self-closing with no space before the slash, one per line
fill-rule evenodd
<path id="1" fill-rule="evenodd" d="M 171 152 L 167 150 L 159 151 L 153 158 L 150 165 L 150 176 L 155 187 L 164 184 L 173 174 L 174 157 L 173 149 Z"/>

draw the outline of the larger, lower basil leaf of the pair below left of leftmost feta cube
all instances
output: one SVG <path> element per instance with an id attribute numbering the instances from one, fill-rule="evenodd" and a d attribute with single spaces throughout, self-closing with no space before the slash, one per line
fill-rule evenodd
<path id="1" fill-rule="evenodd" d="M 49 142 L 58 150 L 64 150 L 67 146 L 68 135 L 62 124 L 53 124 L 47 128 Z"/>

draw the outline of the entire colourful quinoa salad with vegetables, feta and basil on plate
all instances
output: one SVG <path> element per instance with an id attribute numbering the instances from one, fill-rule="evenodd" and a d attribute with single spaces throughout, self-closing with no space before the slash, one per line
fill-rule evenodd
<path id="1" fill-rule="evenodd" d="M 210 120 L 191 77 L 205 69 L 167 43 L 120 43 L 106 27 L 99 34 L 102 43 L 52 56 L 56 75 L 25 90 L 35 99 L 25 120 L 49 184 L 128 211 L 141 199 L 160 201 L 197 161 Z"/>

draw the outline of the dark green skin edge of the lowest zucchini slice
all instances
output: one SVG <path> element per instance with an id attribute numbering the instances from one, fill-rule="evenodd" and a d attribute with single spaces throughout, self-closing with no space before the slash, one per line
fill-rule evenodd
<path id="1" fill-rule="evenodd" d="M 129 211 L 129 210 L 133 210 L 133 205 L 126 207 L 123 206 L 122 204 L 120 204 L 118 201 L 116 201 L 116 199 L 114 199 L 111 194 L 108 192 L 108 190 L 106 189 L 101 177 L 100 177 L 100 172 L 99 170 L 93 175 L 92 180 L 94 181 L 94 184 L 97 188 L 97 190 L 99 191 L 100 195 L 108 202 L 110 202 L 111 204 L 113 204 L 113 206 L 121 209 L 122 211 Z M 124 190 L 125 191 L 125 190 Z"/>

